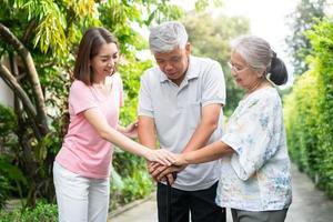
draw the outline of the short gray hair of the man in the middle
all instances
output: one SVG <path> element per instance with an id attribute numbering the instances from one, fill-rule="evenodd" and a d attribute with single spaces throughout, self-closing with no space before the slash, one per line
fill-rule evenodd
<path id="1" fill-rule="evenodd" d="M 155 52 L 169 52 L 175 48 L 184 49 L 188 43 L 184 26 L 178 21 L 169 21 L 150 29 L 149 46 Z"/>

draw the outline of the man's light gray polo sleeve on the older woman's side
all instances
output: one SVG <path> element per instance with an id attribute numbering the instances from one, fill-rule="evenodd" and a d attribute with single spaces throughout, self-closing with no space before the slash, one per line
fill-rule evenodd
<path id="1" fill-rule="evenodd" d="M 220 63 L 214 61 L 203 79 L 202 107 L 220 103 L 225 104 L 225 82 Z"/>

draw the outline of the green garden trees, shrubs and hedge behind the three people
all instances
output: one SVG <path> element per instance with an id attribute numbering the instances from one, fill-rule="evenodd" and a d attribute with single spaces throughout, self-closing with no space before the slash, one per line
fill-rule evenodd
<path id="1" fill-rule="evenodd" d="M 145 30 L 182 21 L 193 54 L 223 67 L 230 115 L 243 92 L 226 65 L 230 42 L 251 33 L 244 17 L 212 16 L 223 0 L 196 0 L 184 10 L 169 0 L 0 0 L 0 221 L 57 221 L 52 163 L 68 125 L 67 97 L 78 43 L 89 27 L 104 27 L 121 46 L 125 105 L 137 119 L 139 80 L 154 64 Z M 272 24 L 274 26 L 274 24 Z M 294 82 L 280 89 L 289 151 L 299 169 L 333 198 L 333 17 L 329 0 L 299 0 L 287 17 L 286 52 Z M 141 158 L 117 149 L 111 211 L 154 190 Z M 19 200 L 16 209 L 8 209 Z"/>

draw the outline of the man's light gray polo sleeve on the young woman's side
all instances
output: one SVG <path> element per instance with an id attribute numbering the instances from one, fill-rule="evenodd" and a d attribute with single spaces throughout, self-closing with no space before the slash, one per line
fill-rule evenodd
<path id="1" fill-rule="evenodd" d="M 153 118 L 151 90 L 148 81 L 149 75 L 142 75 L 140 80 L 138 115 Z"/>

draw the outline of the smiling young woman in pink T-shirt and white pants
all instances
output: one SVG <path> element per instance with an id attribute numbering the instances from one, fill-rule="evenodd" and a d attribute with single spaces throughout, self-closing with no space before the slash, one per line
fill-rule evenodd
<path id="1" fill-rule="evenodd" d="M 125 137 L 137 134 L 135 123 L 118 124 L 123 102 L 118 60 L 118 42 L 108 30 L 84 33 L 69 93 L 70 125 L 53 167 L 59 221 L 107 221 L 112 144 L 161 164 L 174 160 Z"/>

